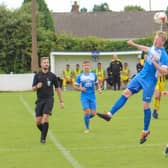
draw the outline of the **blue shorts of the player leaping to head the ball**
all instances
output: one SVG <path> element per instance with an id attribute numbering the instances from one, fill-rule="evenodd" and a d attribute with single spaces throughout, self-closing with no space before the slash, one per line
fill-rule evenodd
<path id="1" fill-rule="evenodd" d="M 143 90 L 142 99 L 150 103 L 154 94 L 156 81 L 137 78 L 136 76 L 130 81 L 127 88 L 134 94 Z"/>

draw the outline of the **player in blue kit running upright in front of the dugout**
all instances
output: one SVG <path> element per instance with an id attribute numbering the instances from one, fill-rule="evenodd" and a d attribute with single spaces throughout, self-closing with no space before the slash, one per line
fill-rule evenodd
<path id="1" fill-rule="evenodd" d="M 90 130 L 90 119 L 96 115 L 95 85 L 101 93 L 96 74 L 90 72 L 90 62 L 84 61 L 83 72 L 76 78 L 75 89 L 81 91 L 80 100 L 84 111 L 85 133 Z"/>

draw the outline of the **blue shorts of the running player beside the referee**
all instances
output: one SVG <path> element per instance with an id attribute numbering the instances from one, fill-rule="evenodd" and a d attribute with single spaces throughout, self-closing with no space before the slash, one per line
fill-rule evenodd
<path id="1" fill-rule="evenodd" d="M 81 96 L 82 109 L 96 110 L 96 97 L 95 95 Z"/>

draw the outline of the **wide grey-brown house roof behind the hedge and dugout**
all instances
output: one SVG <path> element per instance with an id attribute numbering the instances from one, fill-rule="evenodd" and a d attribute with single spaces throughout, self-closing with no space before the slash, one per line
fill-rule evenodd
<path id="1" fill-rule="evenodd" d="M 142 38 L 160 30 L 153 16 L 158 11 L 53 13 L 55 32 L 106 39 Z"/>

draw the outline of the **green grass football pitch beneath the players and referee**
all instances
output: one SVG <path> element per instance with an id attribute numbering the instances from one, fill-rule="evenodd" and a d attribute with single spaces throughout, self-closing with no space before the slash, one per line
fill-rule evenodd
<path id="1" fill-rule="evenodd" d="M 159 119 L 152 118 L 151 134 L 139 144 L 143 129 L 141 93 L 131 97 L 110 122 L 97 116 L 84 133 L 83 111 L 77 91 L 57 97 L 47 143 L 40 143 L 34 122 L 34 92 L 1 92 L 1 168 L 167 168 L 163 149 L 168 143 L 168 97 L 163 97 Z M 109 110 L 121 91 L 97 94 L 99 112 Z"/>

